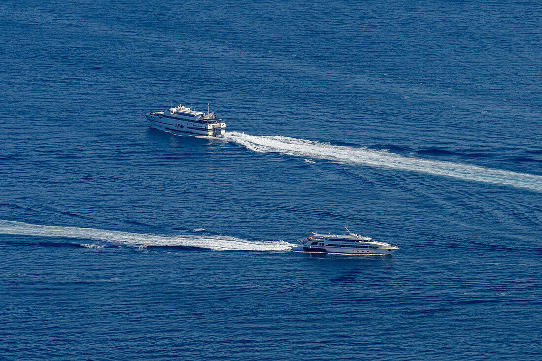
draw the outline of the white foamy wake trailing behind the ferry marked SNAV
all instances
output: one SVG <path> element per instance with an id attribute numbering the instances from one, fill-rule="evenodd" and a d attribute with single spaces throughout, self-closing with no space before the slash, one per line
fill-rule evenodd
<path id="1" fill-rule="evenodd" d="M 525 188 L 542 192 L 542 176 L 526 173 L 491 169 L 478 165 L 441 160 L 404 157 L 386 151 L 376 151 L 365 147 L 349 147 L 330 145 L 318 141 L 281 137 L 281 136 L 250 136 L 238 132 L 227 132 L 225 140 L 234 141 L 249 150 L 268 153 L 276 152 L 296 157 L 311 159 L 327 159 L 343 164 L 363 164 L 375 167 L 402 169 L 429 173 L 437 176 L 448 176 L 500 185 Z"/>

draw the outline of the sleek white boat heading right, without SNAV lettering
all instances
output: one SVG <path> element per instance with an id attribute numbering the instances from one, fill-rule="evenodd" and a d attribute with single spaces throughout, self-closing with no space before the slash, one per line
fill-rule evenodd
<path id="1" fill-rule="evenodd" d="M 346 227 L 345 227 L 346 228 Z M 370 254 L 388 255 L 395 252 L 399 247 L 389 243 L 373 241 L 371 237 L 349 234 L 318 234 L 303 238 L 301 243 L 307 252 L 347 253 L 347 254 Z"/>

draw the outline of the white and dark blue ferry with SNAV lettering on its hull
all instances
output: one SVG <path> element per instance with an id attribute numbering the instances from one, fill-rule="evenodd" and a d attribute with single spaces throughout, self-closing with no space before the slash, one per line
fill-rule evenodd
<path id="1" fill-rule="evenodd" d="M 146 113 L 145 117 L 157 127 L 197 136 L 218 137 L 226 132 L 224 121 L 216 118 L 214 112 L 209 112 L 209 108 L 205 114 L 179 104 L 167 112 Z"/>

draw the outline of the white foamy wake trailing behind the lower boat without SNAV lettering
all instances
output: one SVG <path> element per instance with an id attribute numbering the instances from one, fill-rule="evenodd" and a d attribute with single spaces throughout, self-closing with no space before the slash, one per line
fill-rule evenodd
<path id="1" fill-rule="evenodd" d="M 0 234 L 77 238 L 80 240 L 123 243 L 132 246 L 182 246 L 212 250 L 283 251 L 292 249 L 295 246 L 294 244 L 283 241 L 251 242 L 242 238 L 229 236 L 160 236 L 96 228 L 58 227 L 56 225 L 40 225 L 5 220 L 0 220 Z"/>

